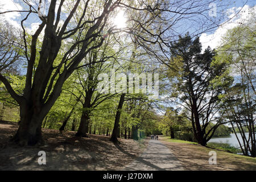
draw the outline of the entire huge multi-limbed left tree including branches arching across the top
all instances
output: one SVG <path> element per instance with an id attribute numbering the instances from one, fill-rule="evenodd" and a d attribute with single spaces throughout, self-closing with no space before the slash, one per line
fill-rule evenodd
<path id="1" fill-rule="evenodd" d="M 216 27 L 216 22 L 207 18 L 209 3 L 214 1 L 51 0 L 49 5 L 44 5 L 46 15 L 42 12 L 42 0 L 38 7 L 26 0 L 22 2 L 27 9 L 17 12 L 24 15 L 20 20 L 23 55 L 27 61 L 23 93 L 15 92 L 10 79 L 2 71 L 0 73 L 0 80 L 20 107 L 20 125 L 12 140 L 22 146 L 43 144 L 42 121 L 60 96 L 64 82 L 77 68 L 85 66 L 81 61 L 93 49 L 101 47 L 106 36 L 127 32 L 134 42 L 154 55 L 155 48 L 151 45 L 170 46 L 170 39 L 174 37 L 170 32 L 175 32 L 172 27 L 178 26 L 182 19 L 191 20 L 196 15 L 205 17 L 201 22 L 200 17 L 194 20 L 199 23 L 200 32 Z M 123 30 L 108 26 L 118 8 L 125 9 L 131 25 Z M 14 11 L 0 14 L 11 12 Z M 26 21 L 31 23 L 33 14 L 39 15 L 40 23 L 29 39 Z M 172 23 L 168 24 L 170 20 Z M 167 30 L 168 34 L 165 34 Z M 99 37 L 100 41 L 93 44 Z M 39 44 L 40 40 L 42 43 Z"/>

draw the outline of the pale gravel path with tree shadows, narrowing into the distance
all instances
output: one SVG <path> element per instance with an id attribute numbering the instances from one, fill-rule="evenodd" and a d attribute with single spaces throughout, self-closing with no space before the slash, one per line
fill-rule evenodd
<path id="1" fill-rule="evenodd" d="M 174 154 L 159 140 L 149 140 L 141 156 L 122 170 L 170 171 L 184 170 Z"/>

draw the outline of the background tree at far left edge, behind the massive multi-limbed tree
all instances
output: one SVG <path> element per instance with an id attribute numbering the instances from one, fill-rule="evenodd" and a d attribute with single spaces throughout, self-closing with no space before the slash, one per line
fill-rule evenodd
<path id="1" fill-rule="evenodd" d="M 14 28 L 10 23 L 0 19 L 0 72 L 9 78 L 11 86 L 15 92 L 22 93 L 24 76 L 20 74 L 24 60 L 24 54 L 22 51 L 22 36 L 19 28 Z M 18 103 L 7 92 L 5 85 L 1 82 L 0 88 L 0 101 L 7 107 L 17 107 Z M 3 113 L 2 113 L 3 114 Z M 3 115 L 1 115 L 3 117 Z"/>

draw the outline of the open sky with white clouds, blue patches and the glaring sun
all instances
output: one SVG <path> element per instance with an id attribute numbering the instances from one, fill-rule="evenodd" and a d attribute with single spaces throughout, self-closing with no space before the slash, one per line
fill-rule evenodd
<path id="1" fill-rule="evenodd" d="M 27 0 L 28 2 L 31 3 L 31 5 L 35 5 L 34 0 Z M 50 0 L 46 0 L 48 3 Z M 221 2 L 222 0 L 220 0 Z M 227 0 L 226 2 L 229 2 L 229 6 L 226 7 L 226 13 L 229 18 L 232 18 L 238 11 L 240 13 L 235 16 L 230 22 L 225 23 L 221 27 L 217 27 L 213 29 L 211 32 L 203 33 L 200 35 L 200 42 L 202 43 L 202 49 L 204 50 L 208 46 L 210 46 L 212 49 L 217 48 L 220 45 L 221 37 L 225 35 L 226 31 L 230 28 L 236 27 L 238 25 L 238 22 L 244 22 L 248 18 L 248 11 L 253 10 L 256 13 L 256 1 L 255 0 L 234 0 L 230 1 Z M 245 5 L 245 6 L 243 6 Z M 243 6 L 243 8 L 242 8 Z M 24 3 L 22 3 L 21 0 L 0 0 L 0 12 L 7 11 L 7 10 L 23 10 Z M 37 7 L 37 6 L 35 6 Z M 242 9 L 242 10 L 241 10 Z M 218 12 L 218 9 L 217 9 Z M 46 13 L 46 12 L 44 12 Z M 115 18 L 115 21 L 120 22 L 118 23 L 119 26 L 125 26 L 125 18 L 122 18 L 121 12 L 118 14 L 118 17 Z M 18 13 L 18 12 L 13 12 L 13 13 L 7 13 L 7 14 L 2 14 L 0 15 L 0 18 L 8 20 L 13 26 L 15 27 L 20 27 L 20 19 L 24 18 L 25 14 L 23 13 Z M 217 14 L 216 18 L 219 18 L 220 14 Z M 30 22 L 31 21 L 31 22 Z M 28 28 L 28 31 L 34 32 L 36 28 L 38 27 L 40 23 L 40 19 L 36 14 L 32 15 L 32 18 L 27 21 L 27 24 L 25 26 Z"/>

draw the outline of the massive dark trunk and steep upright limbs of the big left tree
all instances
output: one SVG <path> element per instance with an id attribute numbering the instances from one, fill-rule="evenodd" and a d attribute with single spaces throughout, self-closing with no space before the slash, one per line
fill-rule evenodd
<path id="1" fill-rule="evenodd" d="M 64 81 L 90 51 L 100 47 L 104 42 L 104 38 L 102 38 L 97 45 L 93 44 L 92 46 L 91 44 L 104 29 L 109 14 L 118 3 L 118 1 L 114 3 L 106 1 L 102 12 L 96 15 L 96 13 L 89 13 L 88 9 L 92 6 L 89 5 L 89 1 L 76 1 L 71 7 L 71 11 L 65 14 L 67 18 L 61 24 L 61 8 L 64 6 L 64 1 L 61 0 L 59 7 L 56 7 L 56 0 L 52 0 L 47 16 L 39 16 L 42 23 L 32 35 L 30 47 L 28 47 L 23 22 L 34 12 L 34 7 L 29 5 L 30 10 L 26 18 L 21 21 L 27 59 L 24 92 L 21 95 L 17 94 L 7 78 L 2 73 L 0 75 L 0 80 L 20 106 L 20 125 L 13 141 L 20 145 L 43 144 L 41 134 L 43 118 L 60 96 Z M 56 8 L 57 14 L 55 14 Z M 36 46 L 43 30 L 43 42 L 38 50 Z M 65 47 L 65 41 L 72 36 L 76 37 L 73 39 L 72 46 Z M 38 59 L 38 65 L 33 73 L 36 59 Z"/>

